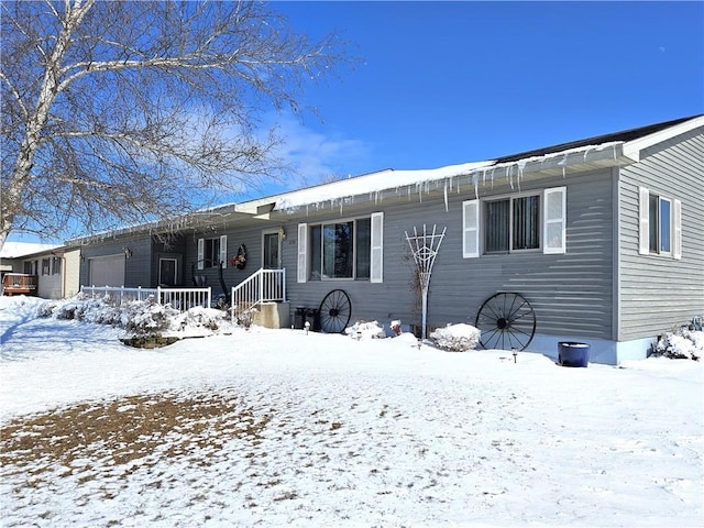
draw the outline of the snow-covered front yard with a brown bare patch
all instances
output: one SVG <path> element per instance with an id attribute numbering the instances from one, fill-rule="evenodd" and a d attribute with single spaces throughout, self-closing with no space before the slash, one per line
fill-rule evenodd
<path id="1" fill-rule="evenodd" d="M 139 350 L 0 300 L 0 525 L 704 524 L 704 364 L 229 329 Z"/>

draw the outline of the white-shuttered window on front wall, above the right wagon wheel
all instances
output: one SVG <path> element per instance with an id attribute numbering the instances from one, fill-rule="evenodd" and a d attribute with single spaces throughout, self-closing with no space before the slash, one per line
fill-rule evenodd
<path id="1" fill-rule="evenodd" d="M 462 205 L 465 258 L 480 254 L 542 250 L 565 252 L 566 188 Z"/>

